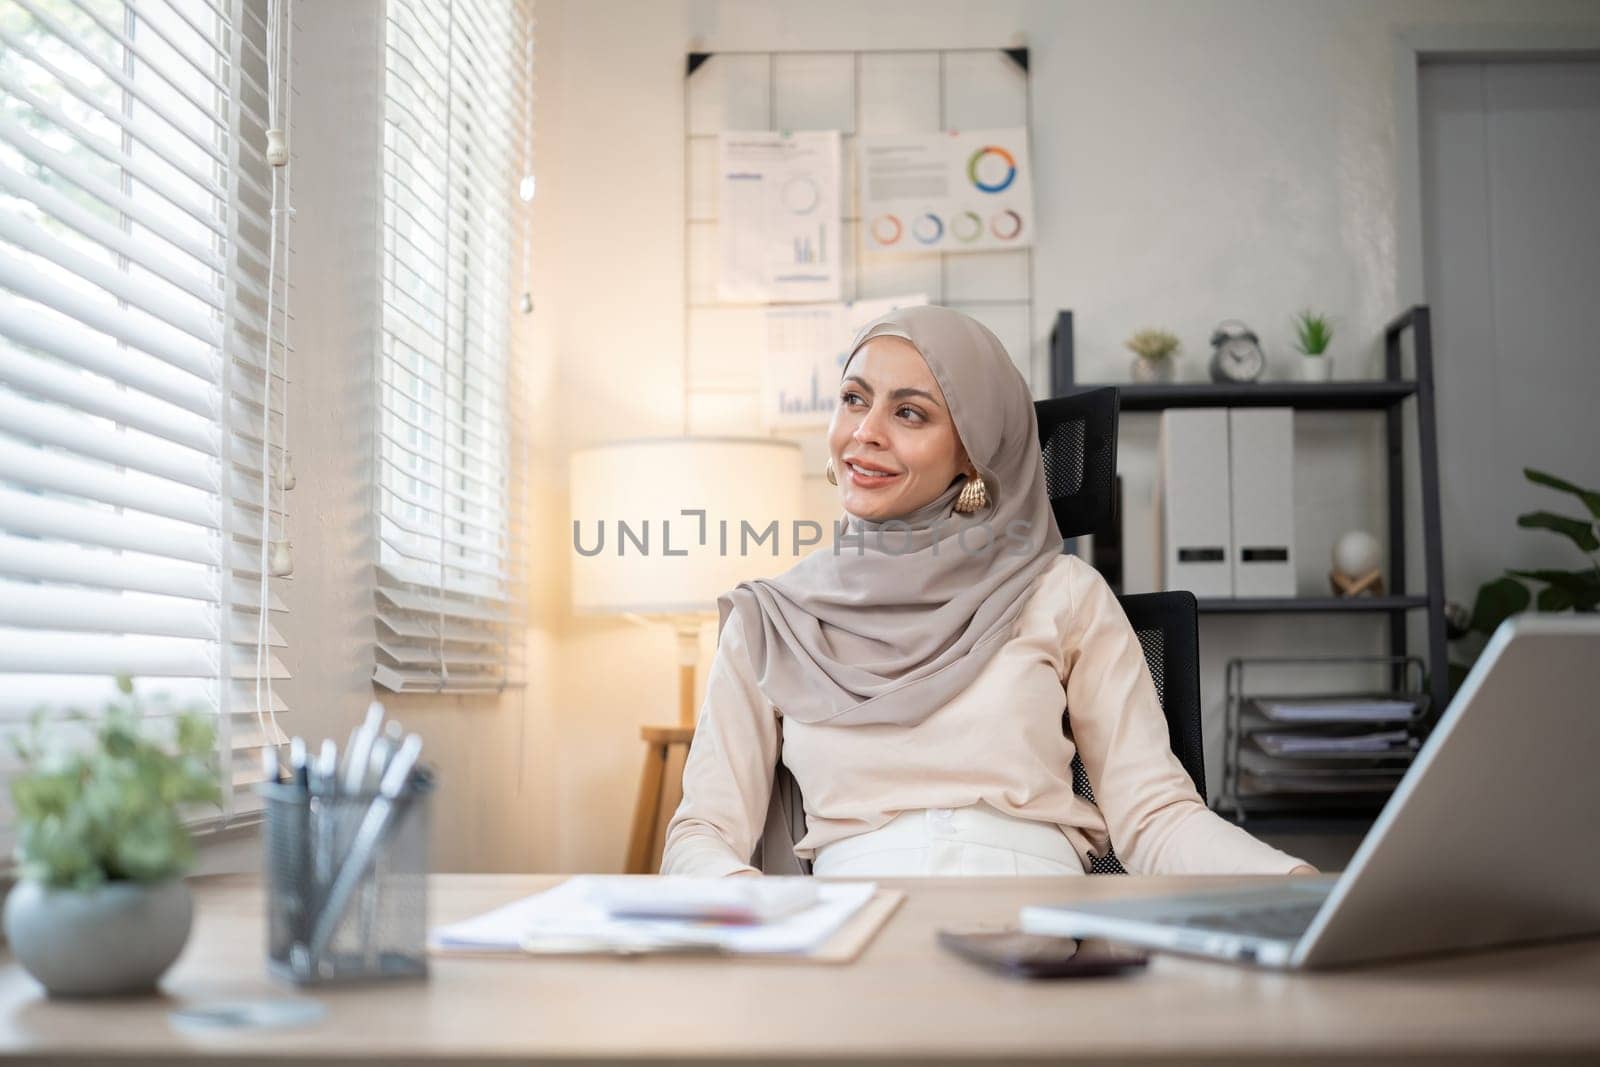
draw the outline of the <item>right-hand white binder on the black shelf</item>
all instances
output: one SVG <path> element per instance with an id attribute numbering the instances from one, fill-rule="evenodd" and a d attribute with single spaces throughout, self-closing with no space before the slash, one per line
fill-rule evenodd
<path id="1" fill-rule="evenodd" d="M 1294 595 L 1294 410 L 1229 408 L 1235 597 Z"/>

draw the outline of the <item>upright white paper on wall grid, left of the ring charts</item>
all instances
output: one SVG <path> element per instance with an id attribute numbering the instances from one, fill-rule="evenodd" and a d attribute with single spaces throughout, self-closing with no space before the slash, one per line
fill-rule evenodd
<path id="1" fill-rule="evenodd" d="M 838 299 L 840 160 L 837 130 L 717 136 L 717 299 Z"/>

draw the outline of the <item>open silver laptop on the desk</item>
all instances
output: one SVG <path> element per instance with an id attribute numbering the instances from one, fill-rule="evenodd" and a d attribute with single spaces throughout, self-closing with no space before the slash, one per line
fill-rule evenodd
<path id="1" fill-rule="evenodd" d="M 1021 925 L 1282 969 L 1600 933 L 1600 617 L 1502 622 L 1342 875 Z"/>

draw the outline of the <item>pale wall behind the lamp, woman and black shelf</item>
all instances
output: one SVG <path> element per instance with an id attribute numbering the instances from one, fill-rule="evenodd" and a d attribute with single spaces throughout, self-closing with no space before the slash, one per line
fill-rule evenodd
<path id="1" fill-rule="evenodd" d="M 298 141 L 307 160 L 298 163 L 296 250 L 307 350 L 293 395 L 301 574 L 288 635 L 298 705 L 344 718 L 370 693 L 358 563 L 366 451 L 352 414 L 366 403 L 371 309 L 370 290 L 350 285 L 371 250 L 341 234 L 352 190 L 368 210 L 370 146 L 350 141 L 376 106 L 376 62 L 352 40 L 370 43 L 374 3 L 298 8 L 301 99 L 320 110 Z M 1120 341 L 1165 325 L 1184 339 L 1182 378 L 1198 379 L 1218 320 L 1250 322 L 1282 358 L 1288 315 L 1312 304 L 1336 317 L 1336 370 L 1350 378 L 1378 373 L 1379 330 L 1398 310 L 1392 32 L 1597 19 L 1584 0 L 539 0 L 539 310 L 526 344 L 544 374 L 530 408 L 546 432 L 536 506 L 550 522 L 536 545 L 536 670 L 520 696 L 470 707 L 416 701 L 405 712 L 427 726 L 445 763 L 450 865 L 616 869 L 637 728 L 675 713 L 669 630 L 565 609 L 563 501 L 570 446 L 685 426 L 694 386 L 683 354 L 686 51 L 1026 43 L 1040 232 L 1034 344 L 1045 344 L 1054 310 L 1070 307 L 1078 378 L 1115 381 L 1128 360 Z M 326 165 L 320 179 L 310 160 Z M 1154 424 L 1144 422 L 1130 419 L 1122 453 L 1134 528 L 1150 491 Z M 1382 456 L 1370 416 L 1306 418 L 1296 446 L 1301 581 L 1312 592 L 1339 531 L 1381 528 Z M 1128 547 L 1152 550 L 1136 537 Z M 1139 584 L 1136 566 L 1130 577 Z M 1379 633 L 1350 619 L 1208 619 L 1213 726 L 1227 656 L 1376 651 Z M 709 656 L 707 632 L 701 678 Z M 1216 737 L 1210 758 L 1216 766 Z"/>

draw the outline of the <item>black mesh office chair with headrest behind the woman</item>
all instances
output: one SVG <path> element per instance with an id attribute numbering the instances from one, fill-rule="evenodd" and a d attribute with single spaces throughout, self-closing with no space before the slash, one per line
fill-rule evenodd
<path id="1" fill-rule="evenodd" d="M 1082 392 L 1038 400 L 1038 445 L 1045 456 L 1045 488 L 1062 537 L 1080 537 L 1114 518 L 1117 486 L 1117 390 Z M 1166 733 L 1178 761 L 1205 797 L 1205 749 L 1200 737 L 1200 625 L 1194 593 L 1162 592 L 1118 597 L 1128 624 L 1139 637 L 1144 661 L 1162 697 Z M 1070 709 L 1061 715 L 1070 731 Z M 1094 801 L 1083 761 L 1072 757 L 1072 792 Z M 774 805 L 768 822 L 805 824 L 800 787 L 782 763 L 779 745 Z M 795 838 L 798 840 L 798 837 Z M 784 870 L 762 862 L 760 848 L 750 862 L 763 870 Z M 800 870 L 811 873 L 810 861 Z M 1126 873 L 1115 849 L 1096 856 L 1090 873 Z"/>

